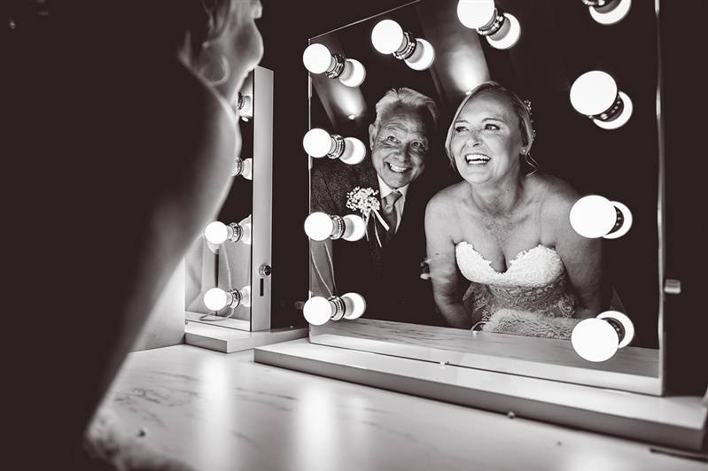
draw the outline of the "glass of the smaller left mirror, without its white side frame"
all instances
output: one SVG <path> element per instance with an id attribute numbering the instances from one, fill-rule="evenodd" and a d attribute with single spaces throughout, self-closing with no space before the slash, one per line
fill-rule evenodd
<path id="1" fill-rule="evenodd" d="M 229 194 L 186 257 L 187 319 L 242 330 L 251 323 L 253 74 L 231 104 L 242 145 Z"/>

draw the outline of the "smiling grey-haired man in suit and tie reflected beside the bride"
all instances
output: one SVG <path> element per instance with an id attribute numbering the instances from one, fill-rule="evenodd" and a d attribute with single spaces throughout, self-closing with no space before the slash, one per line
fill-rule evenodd
<path id="1" fill-rule="evenodd" d="M 315 294 L 354 291 L 367 301 L 368 319 L 438 324 L 429 282 L 422 277 L 425 257 L 424 211 L 434 185 L 420 179 L 431 152 L 438 121 L 435 102 L 413 89 L 392 89 L 376 105 L 369 127 L 371 158 L 348 166 L 338 160 L 315 166 L 311 210 L 345 215 L 347 194 L 360 187 L 377 191 L 385 228 L 371 213 L 367 237 L 332 243 L 333 282 L 323 247 L 313 243 Z M 358 213 L 358 212 L 357 212 Z"/>

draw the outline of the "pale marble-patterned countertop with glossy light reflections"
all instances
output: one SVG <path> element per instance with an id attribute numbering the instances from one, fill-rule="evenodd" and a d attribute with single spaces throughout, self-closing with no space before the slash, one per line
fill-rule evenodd
<path id="1" fill-rule="evenodd" d="M 131 353 L 105 400 L 122 433 L 201 470 L 705 470 L 650 445 L 191 345 Z"/>

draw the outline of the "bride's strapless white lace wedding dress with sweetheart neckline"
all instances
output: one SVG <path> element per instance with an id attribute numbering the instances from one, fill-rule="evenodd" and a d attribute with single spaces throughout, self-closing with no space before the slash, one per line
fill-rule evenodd
<path id="1" fill-rule="evenodd" d="M 578 299 L 569 291 L 563 260 L 541 244 L 520 252 L 507 270 L 497 272 L 471 243 L 455 246 L 457 266 L 471 282 L 463 304 L 473 320 L 489 320 L 501 309 L 549 317 L 572 317 Z"/>

